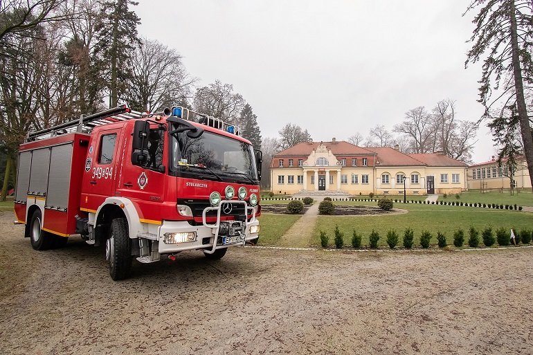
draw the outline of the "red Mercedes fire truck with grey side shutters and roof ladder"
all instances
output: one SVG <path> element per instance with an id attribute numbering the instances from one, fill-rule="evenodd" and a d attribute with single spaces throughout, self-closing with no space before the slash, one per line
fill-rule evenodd
<path id="1" fill-rule="evenodd" d="M 258 238 L 262 154 L 222 120 L 125 105 L 28 134 L 20 145 L 17 224 L 36 250 L 71 235 L 105 245 L 109 274 L 201 250 L 219 259 Z"/>

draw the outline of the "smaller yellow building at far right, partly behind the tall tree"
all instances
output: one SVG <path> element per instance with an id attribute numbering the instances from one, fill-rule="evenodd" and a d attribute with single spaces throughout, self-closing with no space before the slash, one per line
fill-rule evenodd
<path id="1" fill-rule="evenodd" d="M 516 171 L 512 176 L 514 188 L 531 188 L 530 172 L 523 156 L 516 158 Z M 492 156 L 490 161 L 470 165 L 467 173 L 469 190 L 503 190 L 511 188 L 511 174 L 506 160 L 500 166 Z"/>

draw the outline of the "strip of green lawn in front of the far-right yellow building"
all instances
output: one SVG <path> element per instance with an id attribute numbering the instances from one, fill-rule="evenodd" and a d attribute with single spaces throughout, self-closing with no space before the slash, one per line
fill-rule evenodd
<path id="1" fill-rule="evenodd" d="M 462 201 L 468 203 L 497 203 L 498 205 L 514 205 L 517 206 L 533 206 L 533 194 L 531 192 L 519 192 L 511 194 L 510 192 L 491 191 L 485 192 L 462 192 L 459 194 L 459 199 L 455 195 L 450 195 L 444 199 L 440 196 L 439 201 Z"/>

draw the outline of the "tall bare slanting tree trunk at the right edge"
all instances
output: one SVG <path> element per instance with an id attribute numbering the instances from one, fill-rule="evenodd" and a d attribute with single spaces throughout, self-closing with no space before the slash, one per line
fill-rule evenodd
<path id="1" fill-rule="evenodd" d="M 520 120 L 520 131 L 524 143 L 524 155 L 527 162 L 527 170 L 530 172 L 530 181 L 533 187 L 533 136 L 530 127 L 530 120 L 527 117 L 527 107 L 525 105 L 524 88 L 522 80 L 522 69 L 520 66 L 520 53 L 518 48 L 518 31 L 516 26 L 516 10 L 514 0 L 510 1 L 511 12 L 511 48 L 514 75 L 514 87 L 516 89 L 516 108 L 518 109 L 518 119 Z"/>

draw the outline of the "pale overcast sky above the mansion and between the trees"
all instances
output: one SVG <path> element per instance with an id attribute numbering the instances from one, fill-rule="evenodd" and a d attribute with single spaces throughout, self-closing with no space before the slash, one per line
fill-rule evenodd
<path id="1" fill-rule="evenodd" d="M 139 34 L 176 48 L 204 86 L 233 84 L 263 137 L 287 122 L 316 141 L 363 136 L 456 100 L 478 120 L 480 66 L 464 69 L 470 0 L 138 0 Z M 494 154 L 485 124 L 475 162 Z"/>

